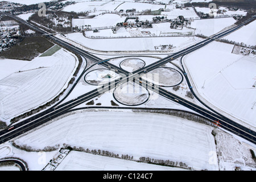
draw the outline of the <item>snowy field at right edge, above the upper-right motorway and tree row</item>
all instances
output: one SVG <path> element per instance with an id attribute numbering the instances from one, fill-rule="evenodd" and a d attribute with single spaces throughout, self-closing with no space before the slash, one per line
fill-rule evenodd
<path id="1" fill-rule="evenodd" d="M 224 37 L 224 39 L 232 40 L 237 43 L 244 43 L 247 46 L 256 46 L 256 21 L 243 26 L 239 30 L 232 32 Z"/>

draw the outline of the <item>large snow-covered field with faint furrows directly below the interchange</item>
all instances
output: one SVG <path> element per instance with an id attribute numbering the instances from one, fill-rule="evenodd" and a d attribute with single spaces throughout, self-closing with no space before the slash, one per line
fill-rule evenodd
<path id="1" fill-rule="evenodd" d="M 212 127 L 170 115 L 124 111 L 76 111 L 15 139 L 34 149 L 64 143 L 115 154 L 183 162 L 194 169 L 218 169 Z"/>

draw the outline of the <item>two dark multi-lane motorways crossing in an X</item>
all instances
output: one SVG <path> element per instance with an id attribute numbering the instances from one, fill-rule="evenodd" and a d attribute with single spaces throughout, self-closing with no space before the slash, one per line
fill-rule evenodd
<path id="1" fill-rule="evenodd" d="M 7 15 L 9 15 L 9 14 L 7 14 Z M 19 20 L 20 22 L 26 24 L 28 27 L 31 27 L 38 32 L 41 32 L 42 34 L 48 33 L 48 32 L 43 31 L 43 30 L 39 29 L 38 27 L 36 27 L 22 19 L 17 18 L 16 16 L 13 16 L 13 15 L 9 15 L 9 16 L 13 17 L 16 20 Z M 226 36 L 226 35 L 230 34 L 231 32 L 236 31 L 238 28 L 241 28 L 245 23 L 247 23 L 251 20 L 254 20 L 254 18 L 251 18 L 236 27 L 230 28 L 229 30 L 221 32 L 220 34 L 213 35 L 212 38 L 214 38 L 214 39 L 222 38 L 223 36 Z M 189 109 L 196 111 L 197 113 L 203 115 L 205 118 L 210 119 L 210 121 L 217 123 L 218 126 L 223 127 L 224 129 L 226 129 L 234 134 L 237 134 L 240 137 L 245 138 L 246 140 L 249 140 L 250 142 L 256 144 L 255 131 L 251 131 L 250 129 L 247 129 L 244 126 L 238 125 L 238 123 L 232 121 L 231 119 L 225 117 L 224 115 L 222 115 L 220 113 L 217 113 L 214 110 L 209 111 L 209 110 L 202 108 L 200 106 L 197 106 L 187 100 L 184 100 L 184 98 L 178 97 L 175 94 L 172 94 L 172 93 L 168 92 L 167 90 L 164 90 L 163 88 L 159 88 L 156 85 L 152 86 L 150 84 L 150 82 L 143 80 L 140 77 L 141 74 L 143 74 L 145 72 L 150 72 L 153 69 L 158 68 L 163 64 L 166 64 L 172 60 L 177 59 L 178 57 L 181 57 L 181 56 L 184 56 L 185 54 L 193 52 L 193 51 L 213 42 L 214 39 L 209 38 L 209 39 L 202 40 L 201 42 L 196 43 L 193 46 L 187 47 L 179 52 L 176 52 L 176 53 L 174 53 L 170 56 L 167 56 L 163 59 L 160 59 L 153 64 L 150 64 L 144 68 L 138 69 L 137 71 L 135 71 L 133 73 L 129 73 L 113 64 L 108 63 L 108 61 L 102 62 L 104 60 L 101 60 L 100 58 L 90 54 L 89 52 L 84 51 L 81 48 L 78 48 L 76 46 L 73 46 L 72 44 L 64 42 L 63 40 L 56 38 L 53 35 L 49 35 L 48 38 L 52 39 L 57 44 L 61 44 L 61 46 L 71 49 L 72 51 L 78 53 L 79 55 L 86 57 L 86 59 L 90 59 L 90 60 L 94 61 L 94 63 L 96 63 L 96 64 L 101 64 L 102 66 L 104 66 L 106 68 L 115 69 L 116 72 L 123 73 L 125 76 L 118 78 L 117 80 L 114 80 L 112 82 L 109 82 L 108 85 L 102 85 L 97 89 L 94 89 L 88 93 L 82 94 L 81 96 L 77 97 L 74 100 L 65 102 L 64 104 L 57 105 L 55 107 L 51 107 L 39 114 L 36 114 L 36 115 L 28 118 L 28 119 L 24 119 L 24 121 L 18 122 L 15 125 L 13 125 L 14 128 L 12 130 L 5 129 L 5 130 L 0 131 L 0 144 L 16 137 L 26 131 L 34 129 L 35 127 L 42 125 L 43 123 L 46 123 L 53 118 L 59 117 L 60 115 L 67 113 L 73 107 L 76 107 L 77 105 L 80 105 L 80 104 L 84 103 L 85 101 L 91 100 L 92 98 L 97 97 L 104 92 L 108 92 L 110 89 L 115 88 L 115 86 L 126 83 L 127 80 L 133 80 L 133 79 L 135 79 L 138 84 L 139 84 L 139 81 L 142 81 L 142 83 L 141 83 L 142 86 L 145 86 L 146 88 L 151 89 L 154 92 L 158 92 L 161 96 L 168 98 L 169 100 L 175 101 L 185 107 L 188 107 Z M 183 73 L 188 82 L 188 85 L 191 86 L 189 79 L 188 79 L 186 73 L 184 72 L 184 69 L 183 69 Z M 192 90 L 192 88 L 191 88 L 191 90 Z M 195 95 L 195 93 L 193 93 L 193 94 Z"/>

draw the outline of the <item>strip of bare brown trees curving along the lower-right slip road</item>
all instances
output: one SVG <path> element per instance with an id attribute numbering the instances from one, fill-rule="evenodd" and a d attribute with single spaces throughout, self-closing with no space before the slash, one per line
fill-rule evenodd
<path id="1" fill-rule="evenodd" d="M 200 115 L 197 115 L 197 114 L 194 114 L 194 113 L 189 113 L 188 111 L 183 111 L 183 110 L 175 110 L 175 109 L 162 109 L 162 110 L 159 110 L 159 109 L 133 109 L 133 112 L 168 114 L 168 115 L 173 115 L 173 116 L 176 116 L 176 117 L 188 119 L 190 121 L 203 123 L 203 124 L 208 125 L 208 126 L 216 127 L 216 125 L 214 125 L 214 123 L 211 122 L 209 119 L 203 118 Z"/>

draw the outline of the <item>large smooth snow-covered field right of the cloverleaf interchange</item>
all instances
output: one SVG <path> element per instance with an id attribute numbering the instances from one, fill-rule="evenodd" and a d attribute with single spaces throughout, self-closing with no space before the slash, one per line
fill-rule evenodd
<path id="1" fill-rule="evenodd" d="M 236 55 L 233 47 L 213 42 L 186 56 L 184 63 L 201 99 L 255 130 L 255 57 Z"/>

